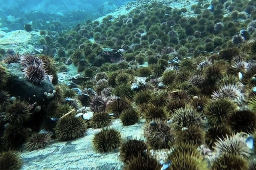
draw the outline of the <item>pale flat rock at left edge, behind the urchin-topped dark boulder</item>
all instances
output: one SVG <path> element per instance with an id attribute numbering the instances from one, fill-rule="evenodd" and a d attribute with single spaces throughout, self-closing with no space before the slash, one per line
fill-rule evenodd
<path id="1" fill-rule="evenodd" d="M 36 46 L 40 46 L 39 39 L 43 36 L 39 32 L 16 30 L 5 33 L 0 31 L 0 48 L 12 49 L 20 54 L 31 53 Z"/>

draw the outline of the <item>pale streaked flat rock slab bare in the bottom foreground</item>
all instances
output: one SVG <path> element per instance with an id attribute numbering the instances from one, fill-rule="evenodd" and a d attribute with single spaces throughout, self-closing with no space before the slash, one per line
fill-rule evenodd
<path id="1" fill-rule="evenodd" d="M 143 139 L 145 120 L 132 126 L 122 126 L 117 119 L 110 127 L 120 131 L 122 139 Z M 121 170 L 119 151 L 96 153 L 92 145 L 94 134 L 101 129 L 88 129 L 86 136 L 69 142 L 56 142 L 41 150 L 22 152 L 22 170 Z"/>

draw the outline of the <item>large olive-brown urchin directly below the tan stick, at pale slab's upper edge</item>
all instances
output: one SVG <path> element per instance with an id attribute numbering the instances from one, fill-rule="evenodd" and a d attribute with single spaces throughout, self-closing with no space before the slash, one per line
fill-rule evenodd
<path id="1" fill-rule="evenodd" d="M 86 124 L 82 118 L 69 114 L 58 120 L 54 128 L 55 137 L 60 141 L 68 141 L 84 136 Z"/>

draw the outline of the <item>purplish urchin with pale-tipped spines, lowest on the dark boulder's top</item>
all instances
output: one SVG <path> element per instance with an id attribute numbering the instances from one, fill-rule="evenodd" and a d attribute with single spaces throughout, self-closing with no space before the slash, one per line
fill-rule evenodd
<path id="1" fill-rule="evenodd" d="M 42 65 L 25 65 L 23 68 L 25 78 L 35 84 L 42 84 L 46 79 L 46 70 Z"/>

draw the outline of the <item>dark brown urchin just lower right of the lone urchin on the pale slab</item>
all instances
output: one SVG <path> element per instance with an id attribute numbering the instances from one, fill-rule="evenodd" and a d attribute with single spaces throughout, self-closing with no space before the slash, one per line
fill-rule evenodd
<path id="1" fill-rule="evenodd" d="M 144 156 L 146 149 L 148 149 L 148 147 L 143 140 L 129 139 L 122 143 L 119 148 L 120 159 L 124 163 L 129 163 L 134 158 Z"/>

